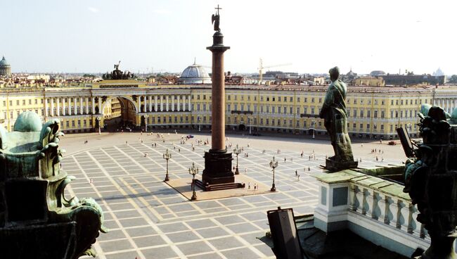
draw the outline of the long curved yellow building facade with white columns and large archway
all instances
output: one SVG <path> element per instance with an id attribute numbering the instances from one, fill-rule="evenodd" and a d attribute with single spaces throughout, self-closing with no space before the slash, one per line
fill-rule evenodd
<path id="1" fill-rule="evenodd" d="M 226 127 L 251 133 L 326 134 L 316 118 L 326 86 L 226 85 Z M 349 86 L 349 135 L 363 139 L 396 139 L 397 127 L 418 137 L 420 105 L 433 103 L 451 113 L 457 107 L 457 87 Z M 103 130 L 105 120 L 121 117 L 137 130 L 209 130 L 209 84 L 157 85 L 113 80 L 81 87 L 24 87 L 1 89 L 0 122 L 12 130 L 25 110 L 42 120 L 59 118 L 63 132 Z"/>

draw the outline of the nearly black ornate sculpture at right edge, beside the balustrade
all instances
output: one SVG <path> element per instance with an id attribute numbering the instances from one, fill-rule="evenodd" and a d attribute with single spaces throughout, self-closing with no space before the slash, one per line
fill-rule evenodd
<path id="1" fill-rule="evenodd" d="M 425 104 L 420 111 L 423 144 L 406 161 L 404 192 L 417 204 L 417 220 L 430 234 L 430 248 L 421 258 L 457 258 L 457 109 L 449 115 Z"/>

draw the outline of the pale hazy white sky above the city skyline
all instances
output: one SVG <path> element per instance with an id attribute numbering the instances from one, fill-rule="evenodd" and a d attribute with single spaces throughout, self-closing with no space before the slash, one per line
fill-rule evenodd
<path id="1" fill-rule="evenodd" d="M 211 65 L 219 4 L 226 70 L 457 74 L 457 1 L 1 1 L 0 55 L 13 72 L 181 72 Z"/>

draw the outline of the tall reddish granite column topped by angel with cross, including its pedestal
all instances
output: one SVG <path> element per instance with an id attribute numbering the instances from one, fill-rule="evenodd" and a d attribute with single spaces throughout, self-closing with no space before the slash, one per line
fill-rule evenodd
<path id="1" fill-rule="evenodd" d="M 225 77 L 224 52 L 230 49 L 224 46 L 224 35 L 219 28 L 219 5 L 216 14 L 212 15 L 212 23 L 216 31 L 212 36 L 212 46 L 207 47 L 212 52 L 212 96 L 211 96 L 211 149 L 205 152 L 205 170 L 202 182 L 205 185 L 226 184 L 235 182 L 231 171 L 232 154 L 225 146 Z"/>

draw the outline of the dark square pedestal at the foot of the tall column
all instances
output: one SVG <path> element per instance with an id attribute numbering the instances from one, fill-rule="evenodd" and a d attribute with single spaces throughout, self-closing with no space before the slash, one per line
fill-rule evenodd
<path id="1" fill-rule="evenodd" d="M 205 185 L 228 184 L 235 182 L 235 176 L 231 170 L 232 154 L 222 151 L 205 152 L 205 170 L 203 170 L 202 182 Z"/>

